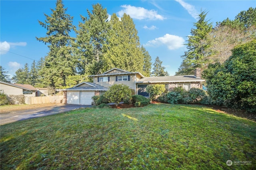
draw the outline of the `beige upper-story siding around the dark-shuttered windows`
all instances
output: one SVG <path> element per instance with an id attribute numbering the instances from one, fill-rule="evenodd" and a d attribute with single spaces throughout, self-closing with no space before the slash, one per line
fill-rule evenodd
<path id="1" fill-rule="evenodd" d="M 127 74 L 127 75 L 130 75 L 130 81 L 117 81 L 116 82 L 116 75 L 114 75 L 114 76 L 110 76 L 109 82 L 98 82 L 98 76 L 95 76 L 94 83 L 99 84 L 104 87 L 107 87 L 107 88 L 109 88 L 110 86 L 112 86 L 114 84 L 125 84 L 125 85 L 129 86 L 129 88 L 134 89 L 135 88 L 135 85 L 134 85 L 135 84 L 135 75 L 134 74 Z M 126 74 L 124 74 L 122 76 L 126 76 Z M 103 76 L 100 76 L 100 77 L 103 77 Z"/>

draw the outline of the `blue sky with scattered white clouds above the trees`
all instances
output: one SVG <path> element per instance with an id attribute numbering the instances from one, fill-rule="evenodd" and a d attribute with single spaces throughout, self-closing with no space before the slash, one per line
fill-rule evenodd
<path id="1" fill-rule="evenodd" d="M 64 0 L 67 14 L 74 17 L 73 24 L 78 26 L 87 9 L 100 3 L 108 14 L 119 17 L 125 12 L 133 19 L 140 43 L 152 57 L 158 56 L 162 66 L 174 75 L 182 62 L 187 36 L 201 9 L 208 11 L 207 18 L 215 25 L 226 18 L 234 20 L 242 10 L 256 7 L 255 0 Z M 39 61 L 47 55 L 47 45 L 36 40 L 44 37 L 46 29 L 39 25 L 44 14 L 50 15 L 50 8 L 56 6 L 55 0 L 1 0 L 0 1 L 0 65 L 11 76 L 24 64 L 31 66 L 33 60 Z M 74 33 L 71 33 L 75 37 Z M 8 52 L 7 52 L 8 51 Z"/>

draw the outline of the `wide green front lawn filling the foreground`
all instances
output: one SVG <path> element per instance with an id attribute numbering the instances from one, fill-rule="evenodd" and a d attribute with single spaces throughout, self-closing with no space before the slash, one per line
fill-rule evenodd
<path id="1" fill-rule="evenodd" d="M 255 132 L 203 106 L 77 109 L 0 126 L 0 169 L 256 169 Z"/>

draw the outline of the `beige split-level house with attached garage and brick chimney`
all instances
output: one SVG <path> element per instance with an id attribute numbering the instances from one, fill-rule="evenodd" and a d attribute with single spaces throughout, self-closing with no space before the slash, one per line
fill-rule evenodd
<path id="1" fill-rule="evenodd" d="M 102 74 L 90 75 L 93 83 L 82 82 L 72 88 L 64 89 L 64 98 L 68 104 L 92 103 L 92 96 L 102 95 L 114 84 L 125 84 L 134 90 L 134 94 L 149 97 L 146 87 L 149 84 L 164 84 L 166 93 L 175 87 L 182 87 L 185 90 L 190 88 L 202 88 L 201 69 L 194 70 L 194 75 L 184 76 L 153 76 L 145 77 L 140 72 L 129 72 L 119 68 L 112 68 Z"/>

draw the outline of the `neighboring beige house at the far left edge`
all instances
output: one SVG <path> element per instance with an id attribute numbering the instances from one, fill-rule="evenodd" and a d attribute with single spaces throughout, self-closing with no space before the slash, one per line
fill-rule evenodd
<path id="1" fill-rule="evenodd" d="M 0 81 L 0 92 L 6 95 L 36 96 L 36 88 L 30 84 L 12 84 Z"/>

